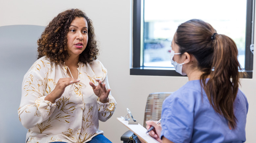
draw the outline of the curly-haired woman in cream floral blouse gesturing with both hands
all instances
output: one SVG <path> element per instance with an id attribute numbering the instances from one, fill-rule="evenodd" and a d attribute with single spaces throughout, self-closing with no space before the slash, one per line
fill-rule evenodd
<path id="1" fill-rule="evenodd" d="M 79 9 L 58 14 L 37 41 L 38 60 L 25 74 L 19 119 L 28 143 L 109 143 L 98 130 L 116 101 L 97 59 L 92 21 Z"/>

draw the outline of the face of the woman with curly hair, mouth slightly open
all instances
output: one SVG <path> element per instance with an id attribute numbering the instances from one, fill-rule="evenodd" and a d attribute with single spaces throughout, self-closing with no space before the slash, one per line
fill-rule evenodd
<path id="1" fill-rule="evenodd" d="M 88 24 L 85 18 L 76 17 L 69 27 L 67 34 L 68 53 L 79 56 L 86 48 L 88 42 Z"/>

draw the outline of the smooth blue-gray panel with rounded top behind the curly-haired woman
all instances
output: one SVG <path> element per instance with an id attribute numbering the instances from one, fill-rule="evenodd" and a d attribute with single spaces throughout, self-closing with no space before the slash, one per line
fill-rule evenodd
<path id="1" fill-rule="evenodd" d="M 36 60 L 36 41 L 44 26 L 0 26 L 0 142 L 25 142 L 27 129 L 18 118 L 23 76 Z"/>

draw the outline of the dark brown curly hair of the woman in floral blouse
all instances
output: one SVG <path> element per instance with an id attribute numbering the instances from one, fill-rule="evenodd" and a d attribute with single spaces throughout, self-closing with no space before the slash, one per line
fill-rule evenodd
<path id="1" fill-rule="evenodd" d="M 59 13 L 46 26 L 41 37 L 37 40 L 38 59 L 47 56 L 55 64 L 64 64 L 64 61 L 70 56 L 67 51 L 67 33 L 70 24 L 76 17 L 85 18 L 88 24 L 88 43 L 85 50 L 80 54 L 79 61 L 91 64 L 93 60 L 97 59 L 99 50 L 96 45 L 92 20 L 79 9 L 69 9 Z"/>

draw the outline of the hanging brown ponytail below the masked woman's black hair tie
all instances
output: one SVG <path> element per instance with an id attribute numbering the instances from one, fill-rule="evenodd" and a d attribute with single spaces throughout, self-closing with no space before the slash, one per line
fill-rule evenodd
<path id="1" fill-rule="evenodd" d="M 237 60 L 238 51 L 235 42 L 225 35 L 216 35 L 213 40 L 214 53 L 210 79 L 203 87 L 210 103 L 219 114 L 229 121 L 232 128 L 236 126 L 236 117 L 233 111 L 239 87 L 240 64 Z M 232 79 L 231 79 L 232 78 Z"/>

